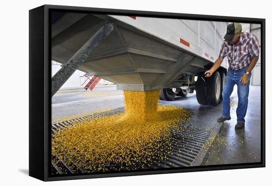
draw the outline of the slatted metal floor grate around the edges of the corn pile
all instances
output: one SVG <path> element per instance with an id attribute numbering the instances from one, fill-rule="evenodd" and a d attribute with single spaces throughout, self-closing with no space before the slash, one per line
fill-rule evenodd
<path id="1" fill-rule="evenodd" d="M 117 108 L 110 111 L 101 113 L 95 113 L 90 116 L 81 117 L 65 122 L 54 123 L 51 127 L 51 132 L 55 133 L 61 128 L 74 125 L 75 122 L 83 121 L 86 119 L 114 115 L 119 112 L 123 112 L 124 108 Z M 207 150 L 208 144 L 211 143 L 211 139 L 218 134 L 218 131 L 222 124 L 215 121 L 215 112 L 201 111 L 189 109 L 192 113 L 190 121 L 187 123 L 180 123 L 182 131 L 171 131 L 172 151 L 168 154 L 161 151 L 167 158 L 162 160 L 159 157 L 151 159 L 142 167 L 143 169 L 158 169 L 158 168 L 170 168 L 170 167 L 186 167 L 186 166 L 198 166 L 201 164 Z M 55 162 L 58 162 L 56 164 Z M 121 165 L 120 165 L 121 167 Z M 120 170 L 120 167 L 115 167 L 113 170 Z M 133 165 L 122 165 L 121 170 L 135 170 Z M 94 170 L 92 172 L 95 172 Z M 85 170 L 78 167 L 76 164 L 73 167 L 69 167 L 66 163 L 60 160 L 58 157 L 52 157 L 51 162 L 52 174 L 74 174 L 85 173 Z"/>

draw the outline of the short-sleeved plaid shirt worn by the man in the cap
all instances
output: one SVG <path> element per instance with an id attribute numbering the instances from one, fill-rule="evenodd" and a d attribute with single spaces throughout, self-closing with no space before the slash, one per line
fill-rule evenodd
<path id="1" fill-rule="evenodd" d="M 247 67 L 252 57 L 258 56 L 259 53 L 257 37 L 252 33 L 242 32 L 235 45 L 229 44 L 226 40 L 223 42 L 219 57 L 224 59 L 227 56 L 229 67 L 232 70 L 239 70 Z"/>

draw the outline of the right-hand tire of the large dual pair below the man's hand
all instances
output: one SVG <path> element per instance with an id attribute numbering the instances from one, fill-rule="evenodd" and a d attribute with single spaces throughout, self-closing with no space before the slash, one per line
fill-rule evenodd
<path id="1" fill-rule="evenodd" d="M 219 72 L 214 72 L 212 77 L 206 78 L 206 99 L 208 104 L 216 106 L 220 103 L 221 78 Z"/>

